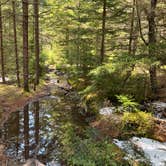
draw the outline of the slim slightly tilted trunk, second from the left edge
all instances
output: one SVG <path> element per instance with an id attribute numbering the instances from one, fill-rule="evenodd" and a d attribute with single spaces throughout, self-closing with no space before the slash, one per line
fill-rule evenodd
<path id="1" fill-rule="evenodd" d="M 14 31 L 14 47 L 15 47 L 15 61 L 16 61 L 16 77 L 17 77 L 17 85 L 18 85 L 18 87 L 20 87 L 20 71 L 19 71 L 19 59 L 18 59 L 18 48 L 17 48 L 15 1 L 12 1 L 12 7 L 13 7 L 13 31 Z"/>

